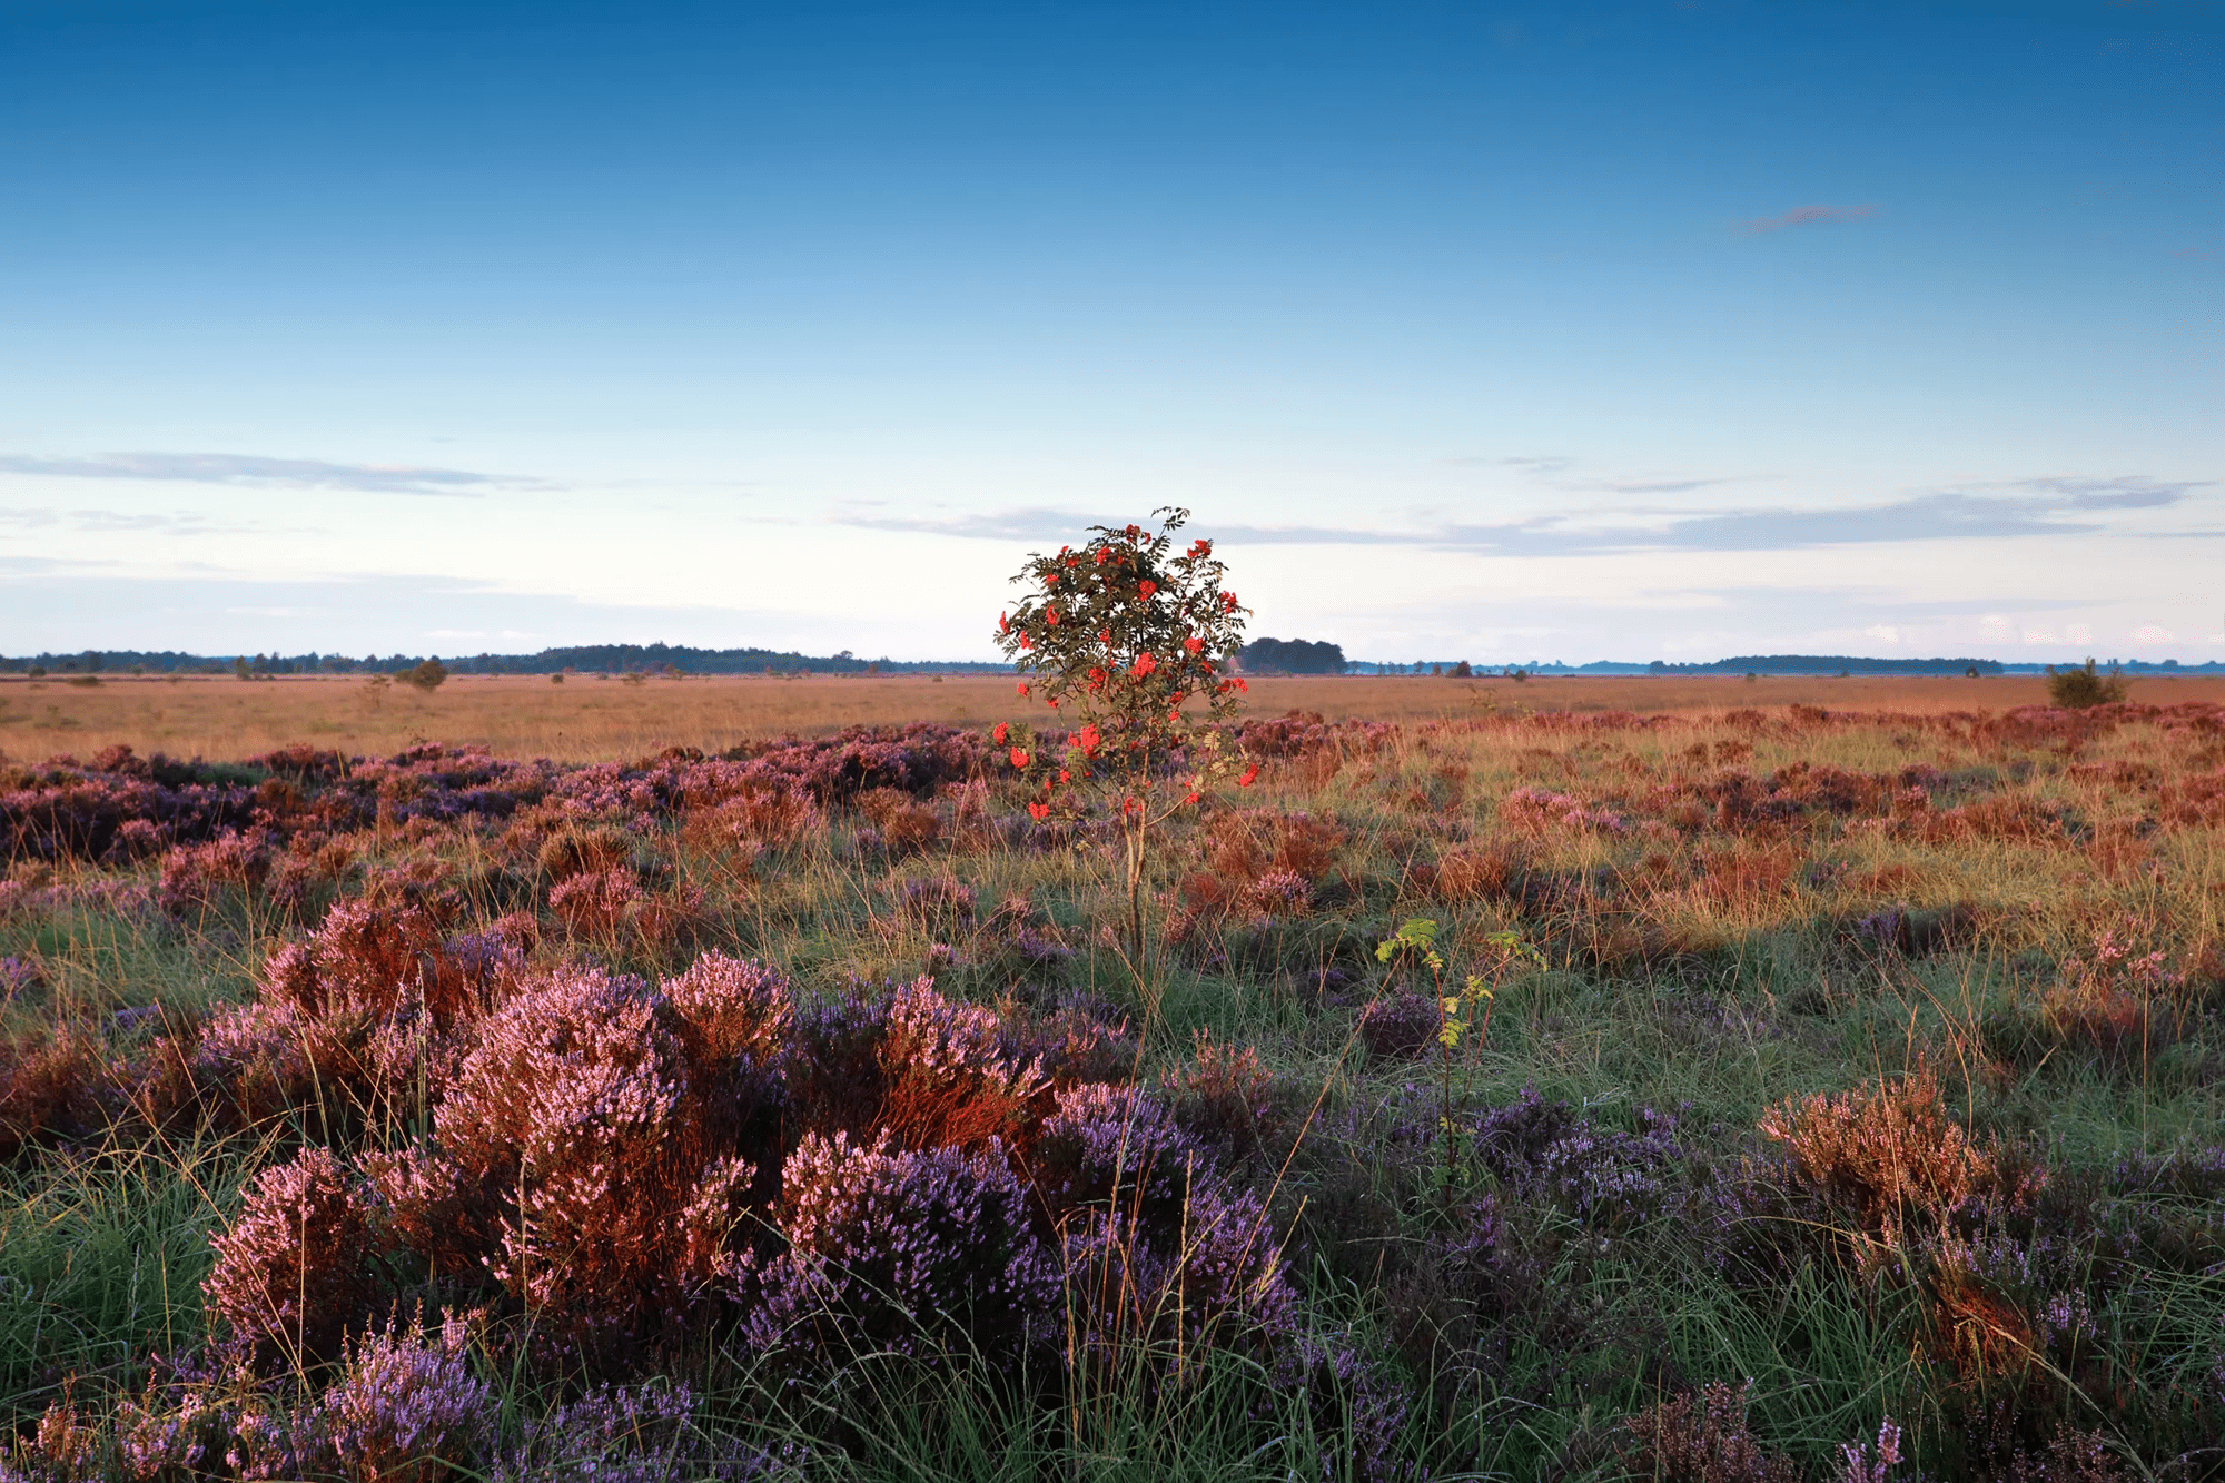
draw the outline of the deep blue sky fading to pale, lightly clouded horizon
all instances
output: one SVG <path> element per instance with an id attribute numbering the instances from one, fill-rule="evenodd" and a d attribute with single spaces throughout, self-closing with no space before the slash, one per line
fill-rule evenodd
<path id="1" fill-rule="evenodd" d="M 0 650 L 2225 657 L 2225 7 L 0 0 Z"/>

